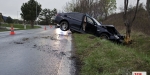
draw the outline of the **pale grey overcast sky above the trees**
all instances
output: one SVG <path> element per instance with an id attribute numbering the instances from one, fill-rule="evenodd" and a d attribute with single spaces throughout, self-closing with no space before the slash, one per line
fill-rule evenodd
<path id="1" fill-rule="evenodd" d="M 28 2 L 29 0 L 0 0 L 0 12 L 4 16 L 10 16 L 12 18 L 20 19 L 21 6 L 23 3 Z M 66 2 L 71 0 L 37 0 L 42 8 L 53 9 L 56 8 L 58 11 L 62 10 Z M 130 5 L 135 5 L 136 0 L 129 0 Z M 117 12 L 119 7 L 123 7 L 124 0 L 116 0 L 117 2 Z M 140 3 L 146 3 L 146 0 L 140 0 Z"/>

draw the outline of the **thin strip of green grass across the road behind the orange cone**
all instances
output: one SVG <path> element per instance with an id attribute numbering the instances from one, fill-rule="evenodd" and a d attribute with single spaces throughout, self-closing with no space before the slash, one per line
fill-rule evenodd
<path id="1" fill-rule="evenodd" d="M 11 25 L 13 25 L 14 28 L 18 28 L 15 30 L 25 30 L 24 25 L 21 25 L 21 24 L 2 24 L 1 26 L 2 27 L 11 27 Z M 41 28 L 41 27 L 40 26 L 34 26 L 34 29 L 37 29 L 37 28 Z M 33 29 L 33 28 L 31 28 L 30 25 L 26 25 L 26 29 Z M 9 31 L 9 29 L 2 28 L 2 29 L 0 29 L 0 31 Z"/>

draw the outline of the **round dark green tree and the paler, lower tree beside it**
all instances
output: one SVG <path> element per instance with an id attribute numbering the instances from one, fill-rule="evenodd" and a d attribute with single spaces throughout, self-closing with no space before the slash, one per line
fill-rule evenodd
<path id="1" fill-rule="evenodd" d="M 40 24 L 49 25 L 51 23 L 51 18 L 57 14 L 57 9 L 43 9 L 41 4 L 35 0 L 29 0 L 26 3 L 23 3 L 21 6 L 22 13 L 20 14 L 24 22 L 30 22 L 31 27 L 34 28 L 35 21 Z M 39 20 L 37 18 L 39 17 Z"/>

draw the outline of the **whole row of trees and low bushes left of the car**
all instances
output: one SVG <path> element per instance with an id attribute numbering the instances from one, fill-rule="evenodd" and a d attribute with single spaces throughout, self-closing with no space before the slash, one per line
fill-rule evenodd
<path id="1" fill-rule="evenodd" d="M 31 28 L 34 28 L 34 25 L 36 23 L 42 24 L 42 25 L 49 25 L 51 23 L 52 16 L 55 16 L 57 14 L 57 9 L 50 10 L 48 8 L 42 9 L 41 4 L 38 3 L 35 0 L 29 0 L 28 2 L 25 2 L 21 6 L 21 18 L 23 20 L 18 19 L 12 19 L 10 16 L 6 17 L 3 16 L 2 13 L 0 13 L 0 24 L 1 22 L 6 23 L 20 23 L 20 24 L 31 24 Z M 4 18 L 6 20 L 4 20 Z"/>

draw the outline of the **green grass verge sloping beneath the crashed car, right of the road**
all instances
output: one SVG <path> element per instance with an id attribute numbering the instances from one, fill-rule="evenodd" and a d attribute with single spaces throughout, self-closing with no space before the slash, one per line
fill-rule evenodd
<path id="1" fill-rule="evenodd" d="M 81 64 L 80 75 L 131 75 L 132 71 L 147 71 L 150 74 L 148 36 L 135 34 L 133 44 L 128 46 L 89 34 L 73 34 L 73 38 L 75 53 L 80 60 L 77 62 Z"/>

